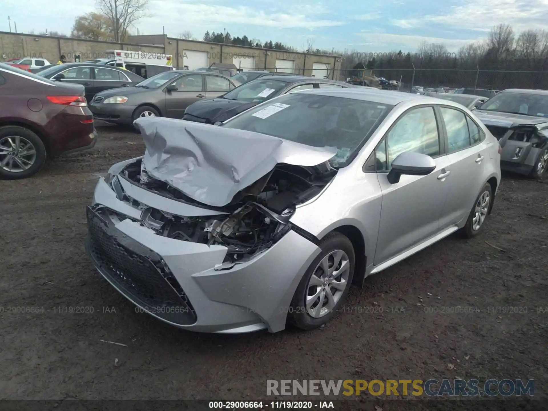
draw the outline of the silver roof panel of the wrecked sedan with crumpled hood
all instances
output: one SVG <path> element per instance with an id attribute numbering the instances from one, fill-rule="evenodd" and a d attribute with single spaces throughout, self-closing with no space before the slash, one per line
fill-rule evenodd
<path id="1" fill-rule="evenodd" d="M 395 106 L 401 102 L 419 101 L 424 104 L 437 103 L 439 99 L 430 96 L 418 95 L 413 93 L 396 92 L 392 90 L 379 90 L 374 87 L 353 87 L 353 88 L 324 88 L 301 90 L 305 94 L 321 94 L 326 96 L 342 97 L 346 99 L 373 101 L 380 104 L 390 104 Z M 447 101 L 447 100 L 446 100 Z M 453 102 L 453 101 L 449 101 Z"/>

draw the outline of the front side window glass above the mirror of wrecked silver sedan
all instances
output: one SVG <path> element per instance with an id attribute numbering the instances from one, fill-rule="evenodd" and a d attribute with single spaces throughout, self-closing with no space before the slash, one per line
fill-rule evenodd
<path id="1" fill-rule="evenodd" d="M 420 107 L 399 118 L 386 135 L 387 170 L 394 159 L 405 151 L 439 155 L 439 135 L 433 107 Z"/>

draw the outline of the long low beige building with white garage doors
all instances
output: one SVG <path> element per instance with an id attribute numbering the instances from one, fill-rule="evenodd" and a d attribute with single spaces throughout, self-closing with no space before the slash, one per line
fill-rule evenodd
<path id="1" fill-rule="evenodd" d="M 334 78 L 341 57 L 242 47 L 232 44 L 183 40 L 167 35 L 129 36 L 127 43 L 83 40 L 0 32 L 0 61 L 41 56 L 55 63 L 64 54 L 67 61 L 106 58 L 106 50 L 128 50 L 147 56 L 172 55 L 173 66 L 195 70 L 213 63 L 232 63 L 242 70 L 284 71 L 310 77 Z"/>

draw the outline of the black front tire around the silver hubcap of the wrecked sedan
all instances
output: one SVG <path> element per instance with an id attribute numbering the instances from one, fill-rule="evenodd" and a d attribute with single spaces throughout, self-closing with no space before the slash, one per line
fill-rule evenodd
<path id="1" fill-rule="evenodd" d="M 303 329 L 311 330 L 326 324 L 335 312 L 339 309 L 340 305 L 346 299 L 346 296 L 349 293 L 350 285 L 352 283 L 352 277 L 354 275 L 354 266 L 355 266 L 355 255 L 352 242 L 344 235 L 338 232 L 329 233 L 319 244 L 319 248 L 322 249 L 322 252 L 316 257 L 310 267 L 306 270 L 305 275 L 302 276 L 299 286 L 297 287 L 295 294 L 293 295 L 293 300 L 289 307 L 289 312 L 287 320 L 293 326 Z M 343 290 L 339 300 L 336 302 L 334 308 L 328 312 L 326 315 L 315 318 L 312 317 L 306 311 L 306 297 L 309 291 L 307 287 L 309 285 L 310 278 L 315 273 L 315 270 L 322 259 L 334 252 L 335 250 L 342 250 L 346 253 L 348 261 L 350 263 L 349 276 L 346 280 L 346 288 Z"/>

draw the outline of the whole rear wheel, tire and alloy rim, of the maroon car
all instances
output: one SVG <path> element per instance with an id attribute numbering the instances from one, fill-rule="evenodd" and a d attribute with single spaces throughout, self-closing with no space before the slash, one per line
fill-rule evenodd
<path id="1" fill-rule="evenodd" d="M 0 127 L 0 177 L 18 180 L 38 173 L 45 163 L 45 147 L 31 130 L 19 125 Z"/>

